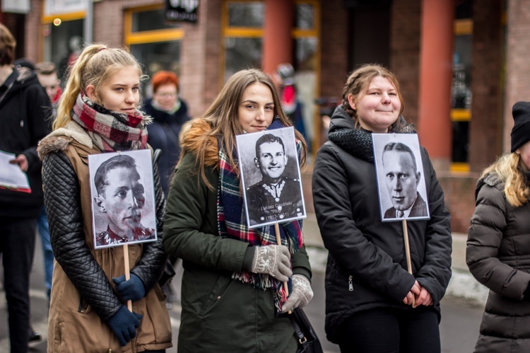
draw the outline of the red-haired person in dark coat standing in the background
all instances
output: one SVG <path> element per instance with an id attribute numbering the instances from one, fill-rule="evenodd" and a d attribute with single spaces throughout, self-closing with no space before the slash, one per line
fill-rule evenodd
<path id="1" fill-rule="evenodd" d="M 177 75 L 170 71 L 158 71 L 151 83 L 153 98 L 146 101 L 143 110 L 153 117 L 153 123 L 147 125 L 148 143 L 153 149 L 162 150 L 158 170 L 167 197 L 169 181 L 180 156 L 180 129 L 191 117 L 186 103 L 179 99 Z"/>

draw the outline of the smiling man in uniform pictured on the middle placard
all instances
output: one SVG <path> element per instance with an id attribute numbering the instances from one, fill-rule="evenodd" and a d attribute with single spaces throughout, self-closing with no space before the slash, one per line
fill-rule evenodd
<path id="1" fill-rule="evenodd" d="M 261 180 L 245 187 L 249 226 L 305 216 L 300 178 L 288 175 L 286 168 L 290 163 L 297 164 L 296 157 L 285 153 L 283 139 L 272 133 L 262 134 L 254 150 L 253 168 L 259 170 Z"/>

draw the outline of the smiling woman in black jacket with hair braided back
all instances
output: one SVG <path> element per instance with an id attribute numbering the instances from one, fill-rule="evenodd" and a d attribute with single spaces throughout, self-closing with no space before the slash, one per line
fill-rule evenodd
<path id="1" fill-rule="evenodd" d="M 430 219 L 408 222 L 412 274 L 401 222 L 383 223 L 377 201 L 372 132 L 414 132 L 402 111 L 394 74 L 378 65 L 360 67 L 346 82 L 314 165 L 314 209 L 329 250 L 326 333 L 342 352 L 440 352 L 440 299 L 451 277 L 452 238 L 425 149 Z"/>

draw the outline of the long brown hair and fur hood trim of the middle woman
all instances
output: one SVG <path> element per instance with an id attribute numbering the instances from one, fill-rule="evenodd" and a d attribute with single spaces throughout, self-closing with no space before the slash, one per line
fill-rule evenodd
<path id="1" fill-rule="evenodd" d="M 239 122 L 237 110 L 248 86 L 253 83 L 264 83 L 269 87 L 273 97 L 274 115 L 280 119 L 283 126 L 293 126 L 281 108 L 281 100 L 276 86 L 269 76 L 258 69 L 245 69 L 233 74 L 218 94 L 216 100 L 206 110 L 199 120 L 194 121 L 184 135 L 182 141 L 182 158 L 189 152 L 196 156 L 197 173 L 201 179 L 213 188 L 206 180 L 205 167 L 219 166 L 218 149 L 223 148 L 229 158 L 230 165 L 239 175 L 239 166 L 234 160 L 235 135 L 243 134 L 243 127 Z M 296 139 L 302 144 L 300 164 L 305 165 L 307 145 L 300 132 L 295 131 Z M 218 141 L 222 146 L 218 146 Z"/>

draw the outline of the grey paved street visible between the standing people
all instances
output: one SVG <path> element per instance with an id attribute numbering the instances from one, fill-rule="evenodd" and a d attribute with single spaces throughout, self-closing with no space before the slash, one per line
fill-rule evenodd
<path id="1" fill-rule="evenodd" d="M 38 239 L 38 237 L 37 237 Z M 309 248 L 308 253 L 314 267 L 313 289 L 314 298 L 305 308 L 315 330 L 322 341 L 324 351 L 328 353 L 339 352 L 338 346 L 331 344 L 324 335 L 324 264 L 326 251 L 321 248 Z M 179 271 L 173 281 L 173 286 L 178 290 Z M 42 342 L 33 345 L 30 352 L 46 352 L 47 334 L 47 298 L 45 294 L 44 280 L 42 277 L 42 251 L 37 240 L 35 247 L 34 270 L 31 277 L 31 311 L 32 323 L 35 331 L 43 335 Z M 1 290 L 0 290 L 1 291 Z M 0 301 L 0 352 L 8 351 L 6 304 L 4 295 Z M 440 332 L 442 335 L 443 353 L 466 353 L 473 352 L 473 347 L 478 336 L 483 308 L 469 299 L 455 296 L 446 296 L 442 301 L 442 323 Z M 180 306 L 177 304 L 170 310 L 173 328 L 173 342 L 176 345 L 180 324 Z M 177 352 L 176 347 L 168 349 L 167 353 Z"/>

